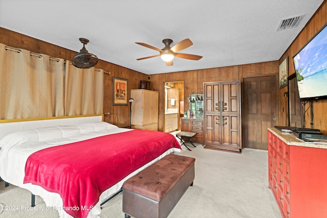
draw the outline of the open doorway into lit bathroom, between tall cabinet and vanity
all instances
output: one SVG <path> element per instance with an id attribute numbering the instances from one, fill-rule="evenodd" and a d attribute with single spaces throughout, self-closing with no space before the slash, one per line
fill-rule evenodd
<path id="1" fill-rule="evenodd" d="M 165 82 L 164 132 L 180 130 L 180 117 L 184 114 L 184 81 Z"/>

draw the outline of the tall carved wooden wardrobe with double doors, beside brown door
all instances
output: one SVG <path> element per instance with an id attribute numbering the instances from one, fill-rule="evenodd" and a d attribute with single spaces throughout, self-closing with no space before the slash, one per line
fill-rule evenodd
<path id="1" fill-rule="evenodd" d="M 203 83 L 206 149 L 242 151 L 241 82 Z"/>

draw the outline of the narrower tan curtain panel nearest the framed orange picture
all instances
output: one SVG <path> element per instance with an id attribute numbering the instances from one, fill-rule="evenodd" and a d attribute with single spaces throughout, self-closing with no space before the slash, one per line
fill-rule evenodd
<path id="1" fill-rule="evenodd" d="M 80 69 L 66 61 L 64 77 L 65 115 L 103 113 L 104 76 L 102 69 Z"/>

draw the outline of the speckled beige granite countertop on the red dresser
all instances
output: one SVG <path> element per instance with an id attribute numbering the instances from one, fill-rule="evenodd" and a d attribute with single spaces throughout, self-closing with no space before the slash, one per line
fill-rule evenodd
<path id="1" fill-rule="evenodd" d="M 327 143 L 322 142 L 305 142 L 297 138 L 293 132 L 282 132 L 276 128 L 268 128 L 269 131 L 274 133 L 279 139 L 287 143 L 289 146 L 311 147 L 319 149 L 327 149 Z"/>

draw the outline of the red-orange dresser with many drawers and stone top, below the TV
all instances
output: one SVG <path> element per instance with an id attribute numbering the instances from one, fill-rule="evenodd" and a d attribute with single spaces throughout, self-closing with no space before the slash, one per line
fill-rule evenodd
<path id="1" fill-rule="evenodd" d="M 327 144 L 268 128 L 268 171 L 283 217 L 327 217 Z"/>

